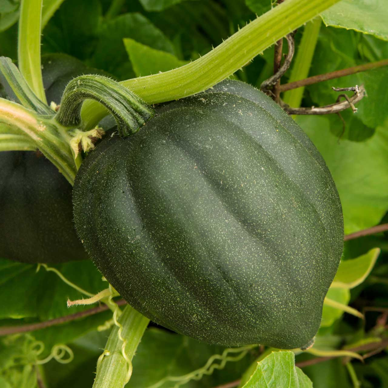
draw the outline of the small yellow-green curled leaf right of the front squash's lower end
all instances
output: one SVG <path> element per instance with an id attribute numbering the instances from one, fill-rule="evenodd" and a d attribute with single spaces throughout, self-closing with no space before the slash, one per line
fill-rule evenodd
<path id="1" fill-rule="evenodd" d="M 349 289 L 361 284 L 370 274 L 379 254 L 380 249 L 374 248 L 355 259 L 341 260 L 332 287 Z"/>

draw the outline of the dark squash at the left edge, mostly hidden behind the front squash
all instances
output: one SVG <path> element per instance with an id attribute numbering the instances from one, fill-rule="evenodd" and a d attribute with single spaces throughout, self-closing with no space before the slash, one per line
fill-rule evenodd
<path id="1" fill-rule="evenodd" d="M 75 76 L 103 74 L 66 54 L 44 55 L 42 68 L 47 100 L 57 104 Z M 69 182 L 42 154 L 0 152 L 0 257 L 28 263 L 86 259 L 74 229 L 71 197 Z"/>

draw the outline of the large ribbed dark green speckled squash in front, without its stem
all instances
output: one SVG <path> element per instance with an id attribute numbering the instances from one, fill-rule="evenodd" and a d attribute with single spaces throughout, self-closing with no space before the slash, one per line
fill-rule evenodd
<path id="1" fill-rule="evenodd" d="M 249 85 L 223 81 L 105 140 L 73 202 L 94 263 L 158 324 L 224 346 L 299 348 L 317 332 L 340 200 L 308 137 Z"/>

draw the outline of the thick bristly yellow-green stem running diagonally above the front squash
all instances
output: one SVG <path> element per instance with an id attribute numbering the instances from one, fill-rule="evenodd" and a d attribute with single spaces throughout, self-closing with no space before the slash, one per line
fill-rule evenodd
<path id="1" fill-rule="evenodd" d="M 122 81 L 122 85 L 149 104 L 202 92 L 336 2 L 338 0 L 287 0 L 196 61 L 165 73 Z M 88 101 L 82 108 L 86 128 L 94 127 L 105 115 L 106 111 L 95 102 Z"/>

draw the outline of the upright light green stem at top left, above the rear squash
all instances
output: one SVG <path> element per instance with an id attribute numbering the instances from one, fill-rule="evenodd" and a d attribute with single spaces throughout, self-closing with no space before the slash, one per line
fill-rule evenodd
<path id="1" fill-rule="evenodd" d="M 47 103 L 40 62 L 40 33 L 43 0 L 22 0 L 17 57 L 19 70 L 36 96 Z"/>

